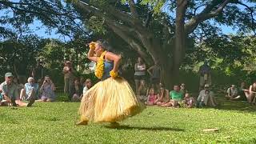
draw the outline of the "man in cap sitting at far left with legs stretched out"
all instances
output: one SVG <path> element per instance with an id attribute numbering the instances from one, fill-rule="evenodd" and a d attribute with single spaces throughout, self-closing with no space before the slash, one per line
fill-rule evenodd
<path id="1" fill-rule="evenodd" d="M 13 74 L 5 74 L 5 82 L 0 85 L 0 90 L 2 90 L 3 99 L 6 104 L 11 106 L 32 106 L 35 98 L 31 97 L 29 103 L 22 102 L 18 95 L 18 87 L 13 83 Z"/>

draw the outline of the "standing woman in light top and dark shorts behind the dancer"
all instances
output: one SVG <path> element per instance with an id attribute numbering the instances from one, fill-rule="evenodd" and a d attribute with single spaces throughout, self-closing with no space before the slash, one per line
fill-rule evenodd
<path id="1" fill-rule="evenodd" d="M 138 58 L 138 62 L 134 65 L 134 81 L 136 86 L 136 94 L 138 95 L 138 86 L 142 83 L 142 80 L 146 80 L 146 64 L 142 58 Z"/>

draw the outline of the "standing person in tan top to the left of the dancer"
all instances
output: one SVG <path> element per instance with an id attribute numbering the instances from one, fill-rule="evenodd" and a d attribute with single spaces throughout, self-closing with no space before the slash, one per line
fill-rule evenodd
<path id="1" fill-rule="evenodd" d="M 69 99 L 71 100 L 71 88 L 74 85 L 74 69 L 72 68 L 72 64 L 70 61 L 66 61 L 64 63 L 63 73 L 65 83 L 64 93 L 67 93 L 69 95 Z"/>

